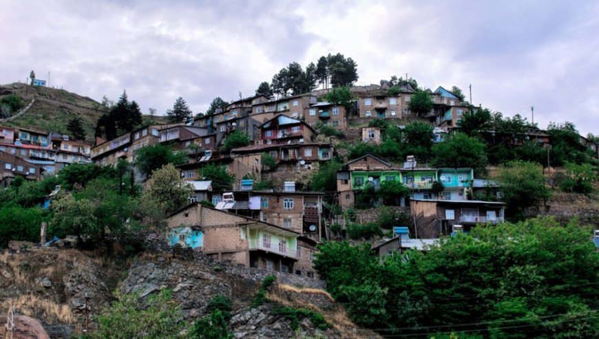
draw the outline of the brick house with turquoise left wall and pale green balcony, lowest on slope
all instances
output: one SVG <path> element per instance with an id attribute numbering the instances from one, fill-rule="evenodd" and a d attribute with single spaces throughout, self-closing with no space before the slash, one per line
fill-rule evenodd
<path id="1" fill-rule="evenodd" d="M 202 250 L 218 261 L 294 272 L 300 259 L 297 232 L 224 210 L 191 204 L 170 215 L 167 223 L 169 244 Z"/>

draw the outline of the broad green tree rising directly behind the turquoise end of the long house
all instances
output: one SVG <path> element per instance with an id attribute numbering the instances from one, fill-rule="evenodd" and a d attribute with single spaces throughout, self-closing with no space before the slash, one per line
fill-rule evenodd
<path id="1" fill-rule="evenodd" d="M 434 166 L 484 168 L 487 164 L 485 144 L 479 138 L 453 133 L 445 142 L 432 146 Z"/>

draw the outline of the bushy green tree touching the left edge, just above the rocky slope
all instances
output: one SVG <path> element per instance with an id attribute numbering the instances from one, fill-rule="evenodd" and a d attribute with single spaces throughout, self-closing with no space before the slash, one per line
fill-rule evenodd
<path id="1" fill-rule="evenodd" d="M 39 242 L 42 221 L 48 217 L 41 208 L 0 208 L 0 248 L 6 248 L 11 240 Z"/>

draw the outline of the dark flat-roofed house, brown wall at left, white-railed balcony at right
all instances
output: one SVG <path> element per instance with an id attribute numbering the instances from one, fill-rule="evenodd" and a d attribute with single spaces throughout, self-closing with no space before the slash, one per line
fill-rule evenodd
<path id="1" fill-rule="evenodd" d="M 502 223 L 505 203 L 479 200 L 411 199 L 410 216 L 418 237 L 469 232 L 477 223 Z"/>

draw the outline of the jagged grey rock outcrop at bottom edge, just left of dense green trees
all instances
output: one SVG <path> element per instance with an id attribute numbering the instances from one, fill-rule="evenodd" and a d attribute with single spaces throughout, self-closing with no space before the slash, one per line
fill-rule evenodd
<path id="1" fill-rule="evenodd" d="M 291 328 L 289 320 L 271 314 L 271 305 L 247 308 L 231 318 L 235 338 L 339 338 L 334 329 L 317 329 L 308 318 L 300 318 L 300 327 Z"/>

